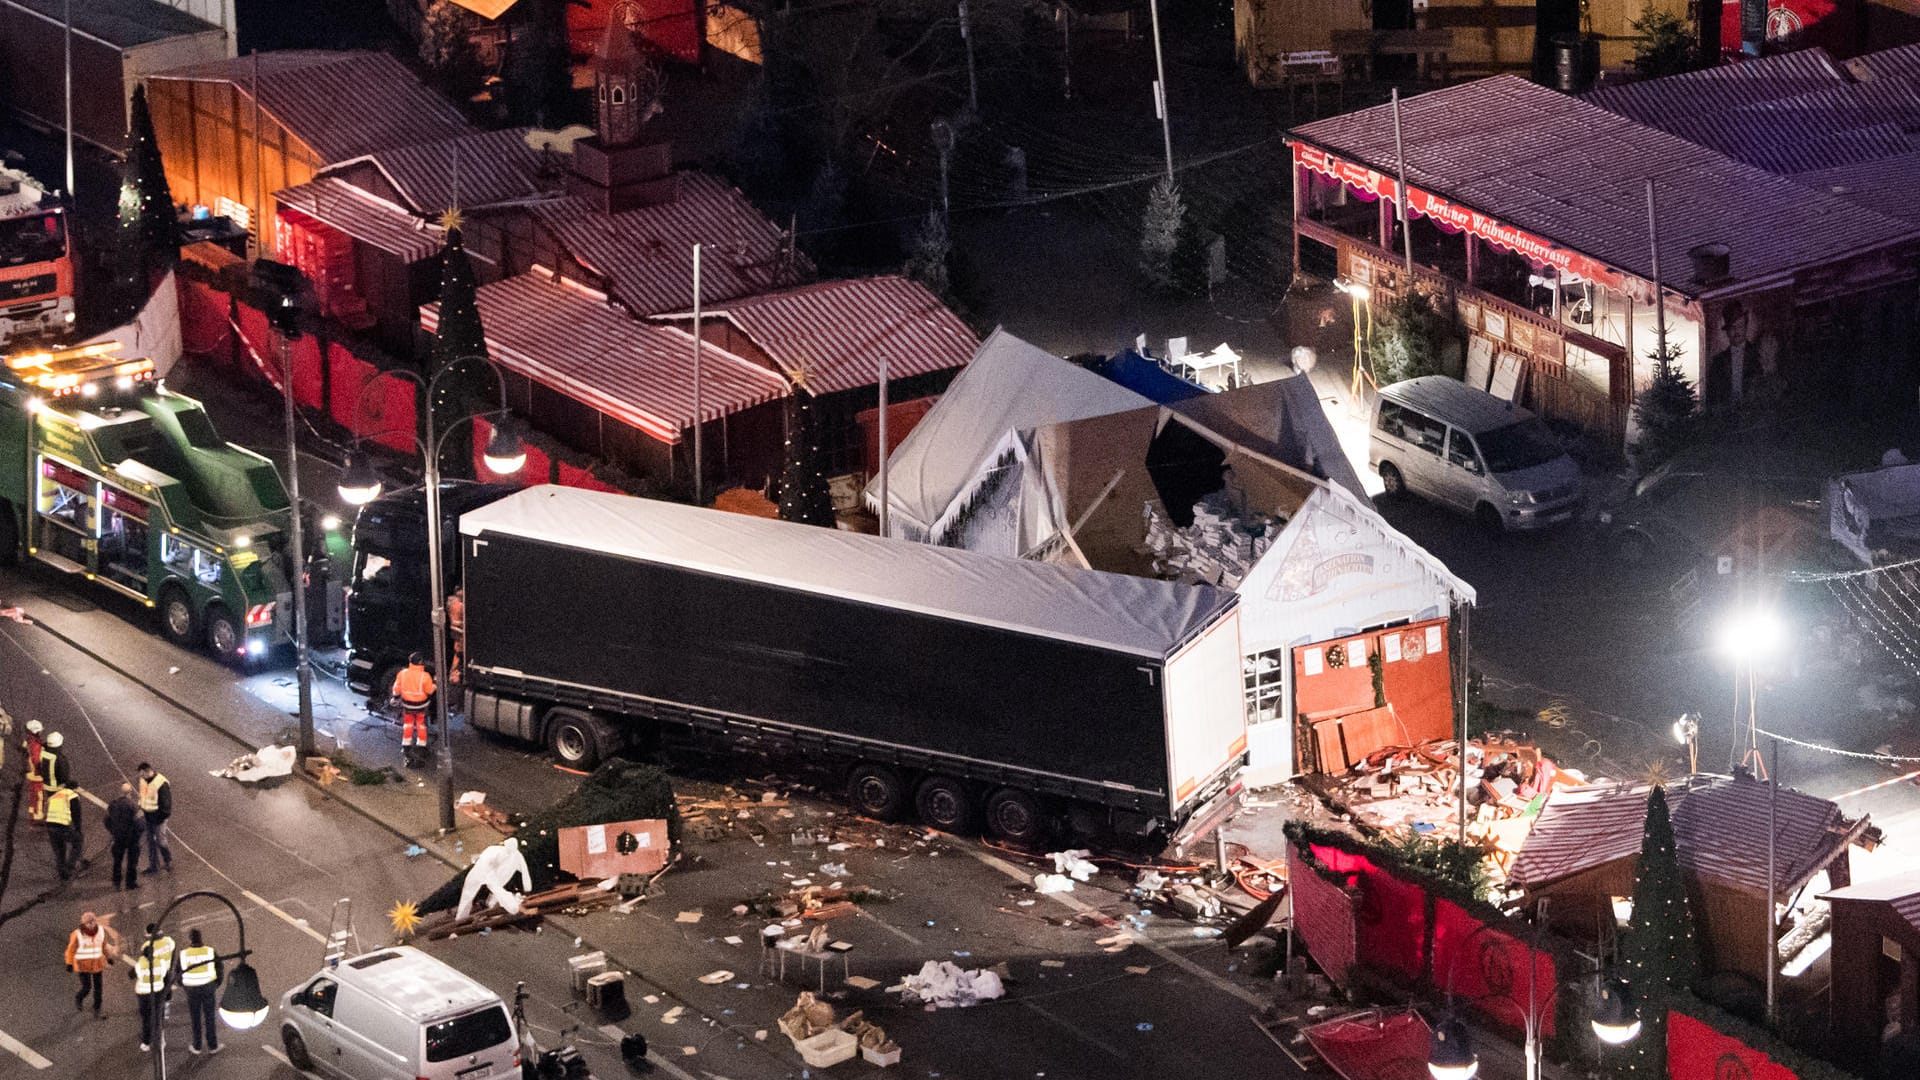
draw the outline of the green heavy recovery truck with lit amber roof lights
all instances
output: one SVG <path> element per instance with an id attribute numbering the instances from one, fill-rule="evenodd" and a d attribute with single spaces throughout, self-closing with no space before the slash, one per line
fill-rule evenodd
<path id="1" fill-rule="evenodd" d="M 244 663 L 292 638 L 290 503 L 119 344 L 0 371 L 0 559 L 31 557 L 154 609 L 180 646 Z"/>

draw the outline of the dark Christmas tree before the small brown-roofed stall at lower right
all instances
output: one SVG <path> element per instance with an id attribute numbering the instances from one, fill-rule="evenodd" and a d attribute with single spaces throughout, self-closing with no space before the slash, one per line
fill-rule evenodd
<path id="1" fill-rule="evenodd" d="M 1634 919 L 1620 936 L 1620 974 L 1640 999 L 1642 1030 L 1624 1047 L 1619 1074 L 1667 1080 L 1667 1007 L 1699 978 L 1699 945 L 1665 788 L 1647 796 L 1647 826 L 1634 871 Z"/>

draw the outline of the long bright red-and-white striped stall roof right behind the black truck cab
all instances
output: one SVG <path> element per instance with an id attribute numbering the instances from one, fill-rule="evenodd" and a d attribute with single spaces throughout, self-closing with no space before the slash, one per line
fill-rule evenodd
<path id="1" fill-rule="evenodd" d="M 693 425 L 693 336 L 628 317 L 584 286 L 534 271 L 480 286 L 480 323 L 501 367 L 593 409 L 678 442 Z M 440 304 L 420 327 L 440 325 Z M 726 352 L 701 350 L 701 417 L 720 417 L 787 394 L 780 375 Z"/>

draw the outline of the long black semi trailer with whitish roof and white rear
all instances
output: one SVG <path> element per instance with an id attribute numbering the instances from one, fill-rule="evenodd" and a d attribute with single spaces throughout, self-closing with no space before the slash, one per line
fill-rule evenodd
<path id="1" fill-rule="evenodd" d="M 459 532 L 468 723 L 564 763 L 695 734 L 1020 844 L 1183 849 L 1238 805 L 1233 592 L 559 486 Z"/>

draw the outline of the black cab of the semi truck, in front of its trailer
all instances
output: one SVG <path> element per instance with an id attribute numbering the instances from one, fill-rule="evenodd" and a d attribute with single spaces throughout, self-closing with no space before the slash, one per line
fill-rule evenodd
<path id="1" fill-rule="evenodd" d="M 440 484 L 442 567 L 447 594 L 459 588 L 459 521 L 518 490 L 513 484 Z M 407 653 L 434 651 L 434 600 L 426 563 L 426 488 L 386 492 L 353 519 L 348 577 L 348 686 L 371 701 L 386 698 Z M 438 675 L 438 673 L 436 673 Z"/>

